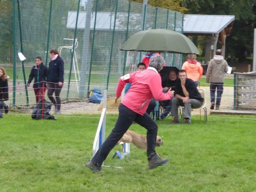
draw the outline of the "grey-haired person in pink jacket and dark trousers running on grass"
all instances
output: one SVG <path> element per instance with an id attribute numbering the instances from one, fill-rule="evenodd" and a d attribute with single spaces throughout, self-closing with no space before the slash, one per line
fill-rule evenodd
<path id="1" fill-rule="evenodd" d="M 127 74 L 119 79 L 115 101 L 121 96 L 126 83 L 131 82 L 132 87 L 119 105 L 118 119 L 111 134 L 94 157 L 86 163 L 86 166 L 93 172 L 101 172 L 103 161 L 129 129 L 133 121 L 147 130 L 148 168 L 153 169 L 168 162 L 168 159 L 160 158 L 155 151 L 158 126 L 150 115 L 145 113 L 152 98 L 160 101 L 173 98 L 173 91 L 162 92 L 161 76 L 158 72 L 163 68 L 164 62 L 162 56 L 155 55 L 151 57 L 150 65 L 146 70 Z"/>

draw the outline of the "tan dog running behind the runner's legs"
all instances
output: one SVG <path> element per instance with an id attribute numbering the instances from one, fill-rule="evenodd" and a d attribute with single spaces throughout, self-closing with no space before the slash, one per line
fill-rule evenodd
<path id="1" fill-rule="evenodd" d="M 141 149 L 147 149 L 147 142 L 146 142 L 146 136 L 137 134 L 133 131 L 128 130 L 125 132 L 123 137 L 117 142 L 119 144 L 120 142 L 124 143 L 133 143 L 135 146 Z M 163 144 L 163 140 L 161 137 L 157 136 L 156 140 L 156 146 L 160 146 Z"/>

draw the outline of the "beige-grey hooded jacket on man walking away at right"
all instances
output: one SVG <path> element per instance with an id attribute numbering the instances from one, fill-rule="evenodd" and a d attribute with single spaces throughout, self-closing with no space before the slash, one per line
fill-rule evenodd
<path id="1" fill-rule="evenodd" d="M 227 73 L 227 70 L 227 61 L 223 56 L 215 55 L 209 62 L 206 72 L 206 82 L 224 82 L 224 76 Z"/>

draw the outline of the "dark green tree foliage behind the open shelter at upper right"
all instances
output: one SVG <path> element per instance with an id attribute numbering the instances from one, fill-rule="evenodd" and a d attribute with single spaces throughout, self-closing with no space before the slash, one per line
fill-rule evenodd
<path id="1" fill-rule="evenodd" d="M 255 25 L 253 3 L 254 0 L 184 0 L 182 5 L 189 14 L 235 15 L 233 29 L 226 41 L 226 55 L 244 61 L 252 49 Z"/>

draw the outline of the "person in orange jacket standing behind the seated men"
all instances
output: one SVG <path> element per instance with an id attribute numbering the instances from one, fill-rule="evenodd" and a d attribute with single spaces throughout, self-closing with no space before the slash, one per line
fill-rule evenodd
<path id="1" fill-rule="evenodd" d="M 196 86 L 198 86 L 198 81 L 203 75 L 203 68 L 196 58 L 197 55 L 189 54 L 188 60 L 183 63 L 181 69 L 184 69 L 187 73 L 187 78 L 192 79 Z"/>

